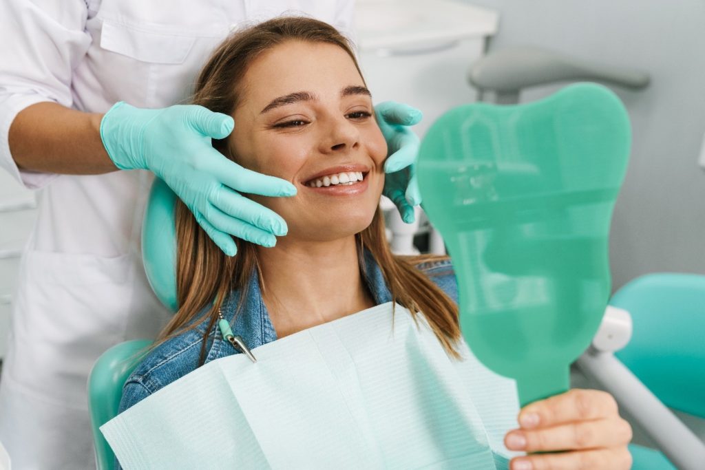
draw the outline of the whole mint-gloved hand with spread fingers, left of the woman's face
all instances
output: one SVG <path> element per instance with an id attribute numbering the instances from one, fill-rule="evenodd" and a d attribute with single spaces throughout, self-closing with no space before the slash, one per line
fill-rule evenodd
<path id="1" fill-rule="evenodd" d="M 273 247 L 274 235 L 288 230 L 283 218 L 240 192 L 296 194 L 288 181 L 247 170 L 212 147 L 211 138 L 223 139 L 233 127 L 231 116 L 203 106 L 139 109 L 121 101 L 103 116 L 100 136 L 115 166 L 142 168 L 164 180 L 216 245 L 233 256 L 237 247 L 228 234 Z"/>

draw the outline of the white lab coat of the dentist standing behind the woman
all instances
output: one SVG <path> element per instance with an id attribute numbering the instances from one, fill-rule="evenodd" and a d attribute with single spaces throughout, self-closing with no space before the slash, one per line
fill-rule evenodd
<path id="1" fill-rule="evenodd" d="M 39 101 L 98 113 L 120 100 L 183 102 L 233 27 L 298 10 L 349 32 L 353 0 L 3 0 L 0 8 L 0 166 L 39 189 L 0 379 L 0 440 L 14 469 L 85 469 L 94 465 L 92 364 L 118 342 L 153 338 L 168 319 L 140 256 L 152 174 L 18 171 L 12 120 Z"/>

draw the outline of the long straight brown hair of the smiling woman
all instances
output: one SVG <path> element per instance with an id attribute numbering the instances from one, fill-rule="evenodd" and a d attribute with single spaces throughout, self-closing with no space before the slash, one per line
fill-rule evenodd
<path id="1" fill-rule="evenodd" d="M 335 44 L 350 55 L 360 71 L 348 40 L 331 25 L 305 17 L 275 18 L 231 35 L 214 51 L 196 82 L 192 103 L 232 115 L 238 106 L 240 82 L 250 63 L 262 52 L 290 40 Z M 227 155 L 226 140 L 214 140 L 213 145 Z M 218 311 L 226 297 L 233 290 L 240 290 L 242 301 L 253 273 L 257 271 L 261 276 L 257 270 L 257 251 L 250 242 L 235 238 L 238 254 L 226 256 L 180 201 L 176 206 L 176 236 L 176 285 L 180 307 L 162 331 L 159 342 L 209 319 L 201 349 L 200 364 L 203 364 L 207 336 L 218 321 Z M 446 351 L 459 358 L 460 354 L 453 347 L 460 338 L 458 307 L 415 268 L 420 261 L 436 258 L 392 254 L 386 242 L 384 219 L 379 208 L 369 227 L 357 233 L 355 238 L 362 272 L 365 266 L 363 254 L 367 250 L 379 264 L 393 301 L 409 309 L 415 320 L 417 314 L 422 312 Z M 261 277 L 259 282 L 262 283 Z M 208 306 L 211 308 L 197 318 Z"/>

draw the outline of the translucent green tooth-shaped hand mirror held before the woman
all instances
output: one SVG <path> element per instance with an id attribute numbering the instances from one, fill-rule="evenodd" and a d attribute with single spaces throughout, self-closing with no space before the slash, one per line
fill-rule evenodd
<path id="1" fill-rule="evenodd" d="M 460 327 L 523 405 L 568 390 L 610 294 L 608 233 L 630 151 L 624 106 L 580 83 L 444 114 L 419 150 L 424 209 L 453 259 Z"/>

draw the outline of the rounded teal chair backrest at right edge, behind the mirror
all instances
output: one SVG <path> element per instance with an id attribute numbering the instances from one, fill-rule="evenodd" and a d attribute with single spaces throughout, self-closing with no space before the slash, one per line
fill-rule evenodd
<path id="1" fill-rule="evenodd" d="M 634 328 L 615 355 L 663 403 L 705 418 L 705 276 L 642 276 L 610 304 L 629 311 Z"/>

